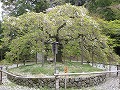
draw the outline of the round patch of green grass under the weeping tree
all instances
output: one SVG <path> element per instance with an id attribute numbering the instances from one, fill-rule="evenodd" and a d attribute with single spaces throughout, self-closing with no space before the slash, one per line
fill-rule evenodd
<path id="1" fill-rule="evenodd" d="M 89 64 L 81 65 L 80 62 L 67 62 L 66 64 L 57 63 L 57 69 L 60 73 L 64 72 L 64 67 L 68 67 L 68 73 L 81 73 L 81 72 L 94 72 L 101 71 L 101 69 L 90 66 Z M 41 64 L 33 64 L 29 66 L 20 66 L 18 68 L 12 68 L 9 70 L 17 75 L 53 75 L 54 63 L 46 63 L 43 67 Z"/>

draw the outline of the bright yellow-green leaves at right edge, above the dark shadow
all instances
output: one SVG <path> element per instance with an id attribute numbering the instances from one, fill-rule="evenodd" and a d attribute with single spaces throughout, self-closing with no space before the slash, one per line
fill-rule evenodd
<path id="1" fill-rule="evenodd" d="M 114 21 L 100 21 L 103 28 L 103 33 L 113 39 L 113 45 L 119 46 L 120 39 L 120 20 Z M 113 47 L 114 47 L 113 46 Z"/>

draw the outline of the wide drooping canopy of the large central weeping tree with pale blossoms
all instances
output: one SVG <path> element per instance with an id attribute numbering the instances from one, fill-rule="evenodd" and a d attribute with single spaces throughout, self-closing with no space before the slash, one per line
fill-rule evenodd
<path id="1" fill-rule="evenodd" d="M 62 57 L 80 57 L 82 53 L 86 61 L 117 59 L 107 44 L 108 38 L 84 7 L 66 4 L 46 14 L 31 12 L 6 17 L 2 24 L 2 40 L 9 47 L 6 59 L 10 61 L 23 60 L 36 52 L 47 54 L 51 52 L 51 42 L 59 42 L 58 61 Z"/>

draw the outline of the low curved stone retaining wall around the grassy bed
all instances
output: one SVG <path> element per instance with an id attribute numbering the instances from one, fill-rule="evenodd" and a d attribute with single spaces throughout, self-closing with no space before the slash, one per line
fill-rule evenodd
<path id="1" fill-rule="evenodd" d="M 22 76 L 16 76 L 13 74 L 7 74 L 7 78 L 18 85 L 28 86 L 28 87 L 49 87 L 55 88 L 55 77 L 42 77 L 42 78 L 28 78 Z M 65 87 L 65 78 L 61 77 L 59 82 L 60 87 Z M 66 77 L 67 88 L 82 88 L 95 86 L 106 81 L 106 74 L 89 76 L 89 77 Z"/>

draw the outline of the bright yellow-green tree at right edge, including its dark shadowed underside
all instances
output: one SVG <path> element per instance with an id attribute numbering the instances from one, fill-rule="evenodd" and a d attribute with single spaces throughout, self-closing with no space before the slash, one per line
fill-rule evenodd
<path id="1" fill-rule="evenodd" d="M 120 55 L 120 20 L 100 21 L 103 33 L 109 37 L 108 45 L 113 47 L 115 52 Z"/>

